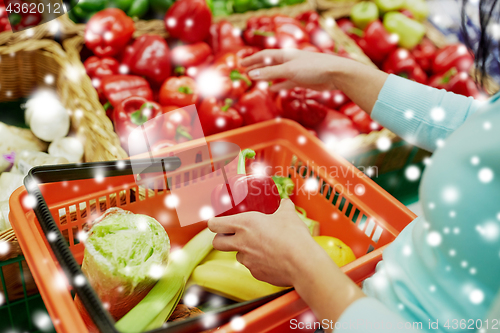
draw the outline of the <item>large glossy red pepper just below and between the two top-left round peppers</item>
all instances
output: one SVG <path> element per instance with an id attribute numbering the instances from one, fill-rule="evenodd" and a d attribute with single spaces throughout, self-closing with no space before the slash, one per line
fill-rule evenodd
<path id="1" fill-rule="evenodd" d="M 157 35 L 142 35 L 125 49 L 122 63 L 131 74 L 144 76 L 158 86 L 170 76 L 170 51 Z"/>

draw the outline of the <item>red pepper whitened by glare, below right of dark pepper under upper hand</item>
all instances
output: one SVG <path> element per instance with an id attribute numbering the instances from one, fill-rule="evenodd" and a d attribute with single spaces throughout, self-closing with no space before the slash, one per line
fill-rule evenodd
<path id="1" fill-rule="evenodd" d="M 342 113 L 329 110 L 325 119 L 316 127 L 318 138 L 327 146 L 335 144 L 343 139 L 354 138 L 359 131 L 353 122 Z"/>

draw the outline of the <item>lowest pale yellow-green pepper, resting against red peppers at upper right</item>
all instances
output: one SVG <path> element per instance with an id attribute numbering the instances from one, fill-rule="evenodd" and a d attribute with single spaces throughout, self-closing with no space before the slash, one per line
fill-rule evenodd
<path id="1" fill-rule="evenodd" d="M 384 15 L 384 28 L 399 37 L 399 45 L 409 50 L 417 46 L 425 35 L 425 27 L 400 12 Z"/>

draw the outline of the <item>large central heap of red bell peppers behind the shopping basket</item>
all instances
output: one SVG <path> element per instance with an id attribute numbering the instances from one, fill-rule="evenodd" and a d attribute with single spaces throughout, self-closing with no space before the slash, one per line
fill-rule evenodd
<path id="1" fill-rule="evenodd" d="M 316 12 L 252 17 L 241 34 L 231 23 L 211 19 L 203 1 L 179 0 L 164 18 L 166 40 L 149 34 L 132 39 L 134 23 L 117 8 L 88 22 L 85 46 L 93 55 L 83 59 L 84 66 L 122 147 L 127 149 L 128 135 L 148 121 L 156 148 L 277 117 L 297 121 L 325 142 L 380 129 L 340 91 L 272 93 L 267 88 L 273 82 L 252 81 L 241 66 L 242 58 L 265 48 L 349 57 L 321 28 Z M 188 112 L 178 111 L 178 123 L 164 116 L 192 104 L 201 129 Z"/>

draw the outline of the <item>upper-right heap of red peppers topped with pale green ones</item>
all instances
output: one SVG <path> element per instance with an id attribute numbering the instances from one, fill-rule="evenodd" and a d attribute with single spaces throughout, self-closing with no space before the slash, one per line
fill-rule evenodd
<path id="1" fill-rule="evenodd" d="M 463 44 L 437 48 L 425 37 L 422 21 L 428 8 L 423 0 L 377 0 L 356 4 L 339 27 L 383 71 L 484 99 L 469 75 L 474 59 Z"/>

